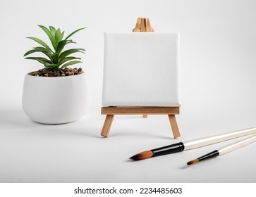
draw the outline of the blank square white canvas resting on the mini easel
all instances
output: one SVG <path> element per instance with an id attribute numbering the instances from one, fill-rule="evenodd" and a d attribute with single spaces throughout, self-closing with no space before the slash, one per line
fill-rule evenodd
<path id="1" fill-rule="evenodd" d="M 102 106 L 181 106 L 179 33 L 105 33 Z"/>

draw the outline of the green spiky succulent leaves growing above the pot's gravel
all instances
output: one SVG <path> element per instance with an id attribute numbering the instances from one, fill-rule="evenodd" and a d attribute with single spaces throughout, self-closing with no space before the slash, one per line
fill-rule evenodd
<path id="1" fill-rule="evenodd" d="M 71 34 L 66 37 L 66 39 L 63 39 L 64 32 L 61 32 L 60 29 L 57 29 L 55 27 L 49 26 L 49 29 L 47 27 L 44 27 L 42 25 L 38 25 L 49 37 L 51 41 L 51 45 L 53 49 L 51 49 L 44 41 L 41 39 L 38 39 L 36 37 L 28 37 L 28 39 L 32 39 L 41 46 L 34 47 L 32 50 L 25 53 L 24 56 L 28 56 L 31 53 L 44 53 L 47 58 L 43 57 L 26 57 L 25 59 L 35 60 L 39 61 L 39 63 L 42 63 L 45 67 L 51 67 L 54 68 L 54 70 L 61 70 L 63 68 L 66 68 L 69 65 L 74 65 L 76 63 L 81 63 L 80 59 L 74 56 L 69 56 L 73 53 L 85 53 L 85 49 L 68 49 L 66 51 L 63 51 L 64 46 L 67 44 L 75 44 L 72 39 L 69 39 L 73 34 L 76 32 L 85 29 L 86 27 L 80 28 L 78 30 L 75 30 Z"/>

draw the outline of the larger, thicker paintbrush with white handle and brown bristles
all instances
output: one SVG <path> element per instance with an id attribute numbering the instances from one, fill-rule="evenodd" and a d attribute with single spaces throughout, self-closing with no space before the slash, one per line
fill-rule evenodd
<path id="1" fill-rule="evenodd" d="M 190 141 L 179 142 L 176 144 L 171 144 L 169 146 L 163 146 L 161 148 L 155 148 L 150 151 L 144 151 L 142 153 L 138 153 L 133 155 L 130 159 L 132 160 L 143 160 L 147 158 L 156 157 L 159 155 L 167 155 L 171 153 L 178 153 L 181 151 L 190 150 L 193 148 L 200 148 L 202 146 L 208 146 L 211 144 L 216 144 L 221 141 L 226 141 L 229 139 L 234 139 L 240 136 L 245 136 L 249 134 L 256 134 L 256 127 L 249 129 L 242 129 L 236 132 L 227 132 L 224 134 L 217 134 L 214 136 L 206 136 L 199 139 L 193 139 Z"/>

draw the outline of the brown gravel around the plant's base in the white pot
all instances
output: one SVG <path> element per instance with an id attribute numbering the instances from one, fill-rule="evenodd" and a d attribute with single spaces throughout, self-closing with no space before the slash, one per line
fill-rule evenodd
<path id="1" fill-rule="evenodd" d="M 83 73 L 82 68 L 63 68 L 61 70 L 54 70 L 53 68 L 46 67 L 40 70 L 30 72 L 28 75 L 39 77 L 63 77 L 70 75 L 79 75 Z"/>

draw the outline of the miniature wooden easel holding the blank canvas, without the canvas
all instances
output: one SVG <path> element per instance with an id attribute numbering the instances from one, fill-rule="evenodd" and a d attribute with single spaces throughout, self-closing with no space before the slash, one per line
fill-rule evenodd
<path id="1" fill-rule="evenodd" d="M 138 18 L 133 32 L 154 32 L 150 25 L 149 18 Z M 109 130 L 114 120 L 114 115 L 168 115 L 173 132 L 173 137 L 181 136 L 176 122 L 176 114 L 179 114 L 179 107 L 102 107 L 102 115 L 106 115 L 102 127 L 102 136 L 109 136 Z"/>

